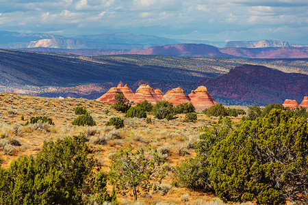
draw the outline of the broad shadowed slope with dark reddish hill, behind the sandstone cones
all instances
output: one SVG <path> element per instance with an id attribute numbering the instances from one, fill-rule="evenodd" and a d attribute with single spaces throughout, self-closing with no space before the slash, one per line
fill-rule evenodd
<path id="1" fill-rule="evenodd" d="M 272 66 L 280 69 L 298 64 L 299 67 L 292 70 L 305 73 L 308 70 L 307 59 L 271 61 L 277 62 Z M 283 103 L 285 98 L 300 101 L 308 96 L 307 74 L 285 73 L 265 66 L 235 66 L 239 62 L 270 65 L 268 59 L 159 55 L 84 57 L 0 49 L 0 91 L 95 99 L 125 81 L 132 89 L 140 83 L 148 83 L 163 92 L 181 86 L 186 94 L 205 85 L 218 102 L 229 105 L 266 105 Z M 230 68 L 233 69 L 229 71 Z"/>

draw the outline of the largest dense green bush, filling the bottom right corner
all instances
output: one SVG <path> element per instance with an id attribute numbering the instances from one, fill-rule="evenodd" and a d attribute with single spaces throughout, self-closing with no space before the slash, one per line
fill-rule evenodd
<path id="1" fill-rule="evenodd" d="M 216 195 L 233 202 L 307 203 L 308 122 L 272 109 L 247 120 L 214 146 L 210 177 Z"/>

